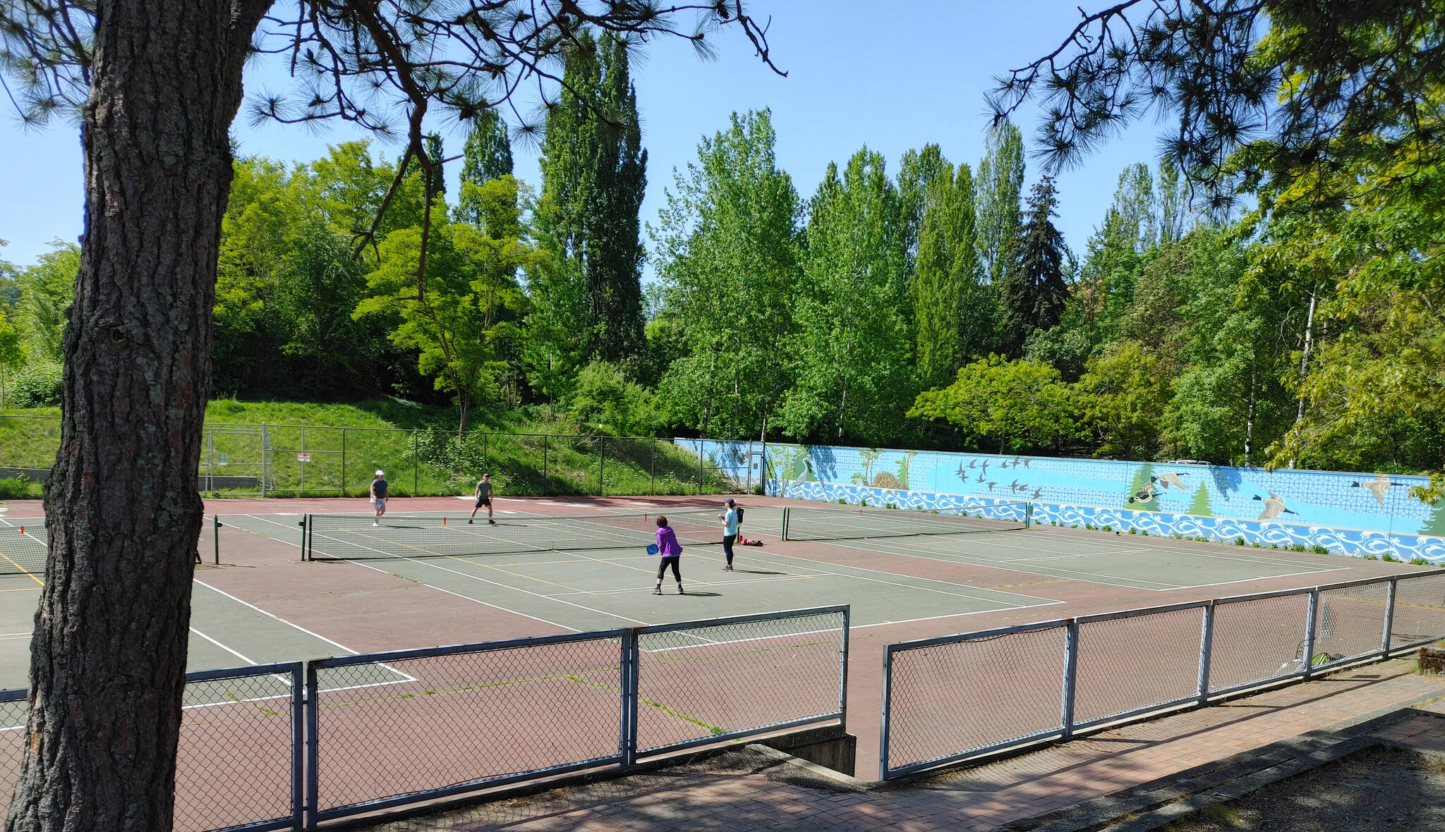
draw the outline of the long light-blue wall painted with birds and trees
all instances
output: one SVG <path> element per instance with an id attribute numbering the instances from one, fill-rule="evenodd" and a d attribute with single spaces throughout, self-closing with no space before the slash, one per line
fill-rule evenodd
<path id="1" fill-rule="evenodd" d="M 715 445 L 725 454 L 730 443 Z M 1035 523 L 1445 563 L 1445 501 L 1409 495 L 1423 477 L 780 443 L 767 443 L 764 468 L 776 497 L 903 508 L 1029 501 Z"/>

